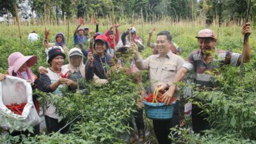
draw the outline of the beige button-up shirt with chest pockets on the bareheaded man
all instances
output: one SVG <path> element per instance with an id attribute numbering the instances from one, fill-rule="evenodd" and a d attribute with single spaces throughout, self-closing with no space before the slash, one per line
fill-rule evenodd
<path id="1" fill-rule="evenodd" d="M 183 63 L 184 60 L 180 56 L 170 51 L 164 58 L 154 54 L 143 60 L 139 56 L 135 64 L 140 70 L 149 70 L 150 92 L 154 93 L 157 84 L 172 84 L 175 74 Z M 179 99 L 179 92 L 175 92 L 174 97 Z"/>

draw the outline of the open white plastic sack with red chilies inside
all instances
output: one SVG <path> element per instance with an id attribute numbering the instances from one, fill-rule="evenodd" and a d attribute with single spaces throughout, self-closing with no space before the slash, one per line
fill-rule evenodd
<path id="1" fill-rule="evenodd" d="M 26 102 L 22 115 L 14 114 L 6 108 L 7 104 L 20 104 Z M 29 126 L 40 124 L 40 117 L 32 99 L 31 85 L 19 77 L 6 76 L 0 81 L 0 127 L 3 129 L 14 129 L 22 131 Z"/>

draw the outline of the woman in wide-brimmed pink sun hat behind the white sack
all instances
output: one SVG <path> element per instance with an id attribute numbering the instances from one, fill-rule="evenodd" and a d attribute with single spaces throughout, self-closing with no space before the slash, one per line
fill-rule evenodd
<path id="1" fill-rule="evenodd" d="M 31 84 L 33 90 L 36 88 L 40 87 L 40 81 L 37 79 L 35 74 L 33 74 L 31 67 L 35 65 L 37 61 L 36 56 L 24 56 L 20 52 L 13 52 L 10 54 L 8 57 L 8 76 L 14 76 L 14 77 L 19 77 L 20 79 L 26 79 L 28 83 Z M 3 81 L 5 79 L 5 75 L 0 74 L 0 81 Z M 37 113 L 39 113 L 39 104 L 38 101 L 36 100 L 36 95 L 33 95 L 33 102 L 35 104 L 35 108 Z M 34 128 L 34 134 L 39 134 L 40 132 L 40 127 L 39 124 L 36 125 Z M 12 132 L 12 135 L 18 135 L 21 134 L 21 132 Z M 28 134 L 28 132 L 22 132 L 22 134 Z M 33 135 L 33 134 L 32 134 Z"/>

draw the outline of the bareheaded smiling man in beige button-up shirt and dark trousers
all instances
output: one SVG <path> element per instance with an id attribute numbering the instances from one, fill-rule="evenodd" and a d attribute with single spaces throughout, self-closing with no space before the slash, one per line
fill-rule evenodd
<path id="1" fill-rule="evenodd" d="M 159 54 L 149 56 L 146 60 L 140 56 L 136 45 L 134 58 L 136 67 L 140 70 L 149 70 L 150 92 L 154 93 L 158 85 L 168 87 L 173 82 L 173 78 L 182 67 L 184 60 L 170 51 L 172 36 L 168 31 L 161 31 L 157 34 L 156 47 Z M 179 125 L 179 92 L 175 92 L 177 102 L 174 104 L 173 117 L 169 120 L 153 120 L 154 131 L 159 144 L 172 143 L 168 140 L 170 128 Z"/>

